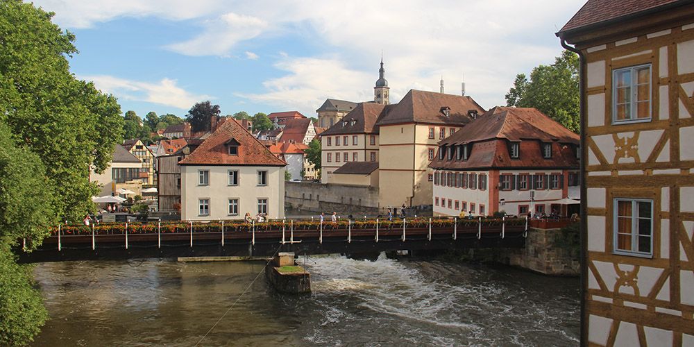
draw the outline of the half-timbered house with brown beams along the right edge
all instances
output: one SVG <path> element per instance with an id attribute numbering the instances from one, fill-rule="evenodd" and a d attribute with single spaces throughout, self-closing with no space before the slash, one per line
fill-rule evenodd
<path id="1" fill-rule="evenodd" d="M 582 56 L 584 343 L 694 346 L 694 3 L 589 0 L 557 35 Z"/>

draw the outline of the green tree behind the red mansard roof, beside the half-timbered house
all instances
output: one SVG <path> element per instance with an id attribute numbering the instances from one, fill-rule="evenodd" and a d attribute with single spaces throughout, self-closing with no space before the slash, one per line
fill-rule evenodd
<path id="1" fill-rule="evenodd" d="M 530 81 L 518 74 L 506 94 L 509 106 L 537 108 L 574 132 L 579 131 L 579 58 L 564 51 L 552 65 L 532 69 Z"/>

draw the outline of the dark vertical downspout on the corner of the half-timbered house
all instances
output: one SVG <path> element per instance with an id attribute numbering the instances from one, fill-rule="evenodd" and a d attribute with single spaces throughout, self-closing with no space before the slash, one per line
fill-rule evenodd
<path id="1" fill-rule="evenodd" d="M 581 225 L 579 232 L 581 233 L 581 346 L 588 345 L 588 317 L 586 316 L 586 289 L 588 289 L 588 188 L 586 186 L 586 158 L 588 158 L 588 146 L 586 138 L 587 117 L 586 114 L 586 56 L 575 47 L 569 46 L 564 38 L 561 38 L 561 46 L 568 51 L 578 54 L 579 57 L 579 94 L 580 94 L 580 131 L 581 131 L 581 160 L 579 167 L 581 169 Z"/>

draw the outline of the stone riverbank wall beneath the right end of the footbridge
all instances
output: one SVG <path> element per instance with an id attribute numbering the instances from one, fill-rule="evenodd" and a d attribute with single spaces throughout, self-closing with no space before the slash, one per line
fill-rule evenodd
<path id="1" fill-rule="evenodd" d="M 578 230 L 529 228 L 525 248 L 475 248 L 464 260 L 497 262 L 548 276 L 579 276 Z"/>

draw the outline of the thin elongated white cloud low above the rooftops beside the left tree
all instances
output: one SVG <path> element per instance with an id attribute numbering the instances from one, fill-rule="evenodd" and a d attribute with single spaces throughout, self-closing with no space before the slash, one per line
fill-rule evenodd
<path id="1" fill-rule="evenodd" d="M 114 94 L 119 99 L 147 101 L 187 110 L 196 102 L 213 99 L 208 95 L 196 95 L 176 85 L 176 80 L 164 78 L 158 83 L 126 80 L 114 76 L 80 76 L 104 92 Z"/>

